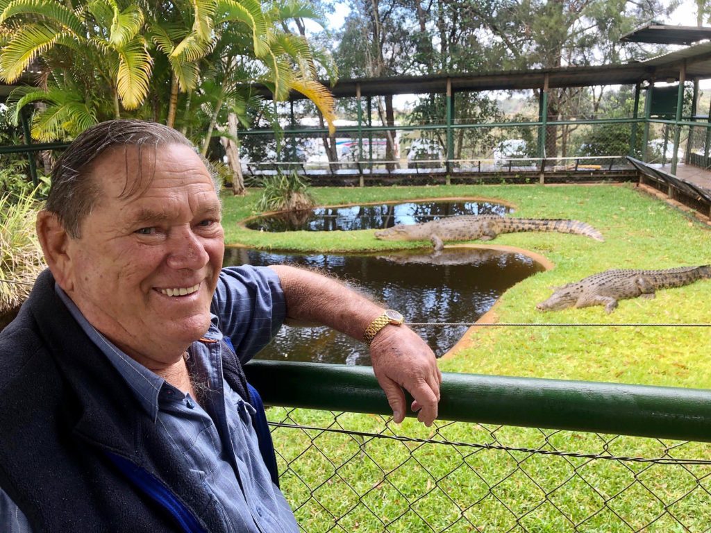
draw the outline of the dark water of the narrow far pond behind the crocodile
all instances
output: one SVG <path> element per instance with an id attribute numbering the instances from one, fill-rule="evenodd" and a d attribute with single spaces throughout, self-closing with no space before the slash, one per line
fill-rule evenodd
<path id="1" fill-rule="evenodd" d="M 383 203 L 269 215 L 247 222 L 247 227 L 265 232 L 382 230 L 454 215 L 506 215 L 510 211 L 506 205 L 490 202 Z"/>

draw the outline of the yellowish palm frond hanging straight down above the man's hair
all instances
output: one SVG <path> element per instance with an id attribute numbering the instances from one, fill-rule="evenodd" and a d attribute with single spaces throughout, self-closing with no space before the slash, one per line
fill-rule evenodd
<path id="1" fill-rule="evenodd" d="M 136 109 L 148 94 L 153 60 L 143 38 L 137 37 L 117 50 L 119 70 L 117 89 L 126 109 Z"/>

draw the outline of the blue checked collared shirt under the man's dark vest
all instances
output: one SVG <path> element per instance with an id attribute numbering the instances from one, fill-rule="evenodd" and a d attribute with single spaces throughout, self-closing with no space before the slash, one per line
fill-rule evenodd
<path id="1" fill-rule="evenodd" d="M 299 530 L 292 510 L 262 461 L 252 426 L 255 410 L 223 378 L 219 342 L 223 334 L 228 335 L 237 356 L 247 362 L 277 333 L 286 308 L 274 271 L 241 266 L 220 273 L 210 328 L 191 345 L 186 360 L 199 403 L 119 350 L 93 328 L 59 286 L 56 291 L 77 323 L 125 379 L 146 416 L 220 502 L 225 530 Z M 2 490 L 0 529 L 31 533 L 22 512 Z"/>

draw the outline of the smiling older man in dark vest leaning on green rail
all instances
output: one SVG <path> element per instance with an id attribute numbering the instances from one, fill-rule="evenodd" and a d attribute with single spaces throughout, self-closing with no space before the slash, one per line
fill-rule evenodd
<path id="1" fill-rule="evenodd" d="M 37 232 L 49 269 L 0 334 L 3 532 L 298 531 L 241 367 L 284 322 L 368 343 L 395 421 L 403 388 L 437 416 L 434 355 L 397 313 L 311 271 L 222 269 L 217 183 L 173 129 L 78 136 Z"/>

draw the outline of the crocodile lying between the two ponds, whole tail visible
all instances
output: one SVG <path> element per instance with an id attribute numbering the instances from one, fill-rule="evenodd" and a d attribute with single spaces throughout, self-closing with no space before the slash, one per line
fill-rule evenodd
<path id="1" fill-rule="evenodd" d="M 498 215 L 457 215 L 431 220 L 421 224 L 398 224 L 375 232 L 376 239 L 432 242 L 435 251 L 444 247 L 444 241 L 490 241 L 499 233 L 559 232 L 575 233 L 604 240 L 594 227 L 578 220 L 515 218 Z"/>

